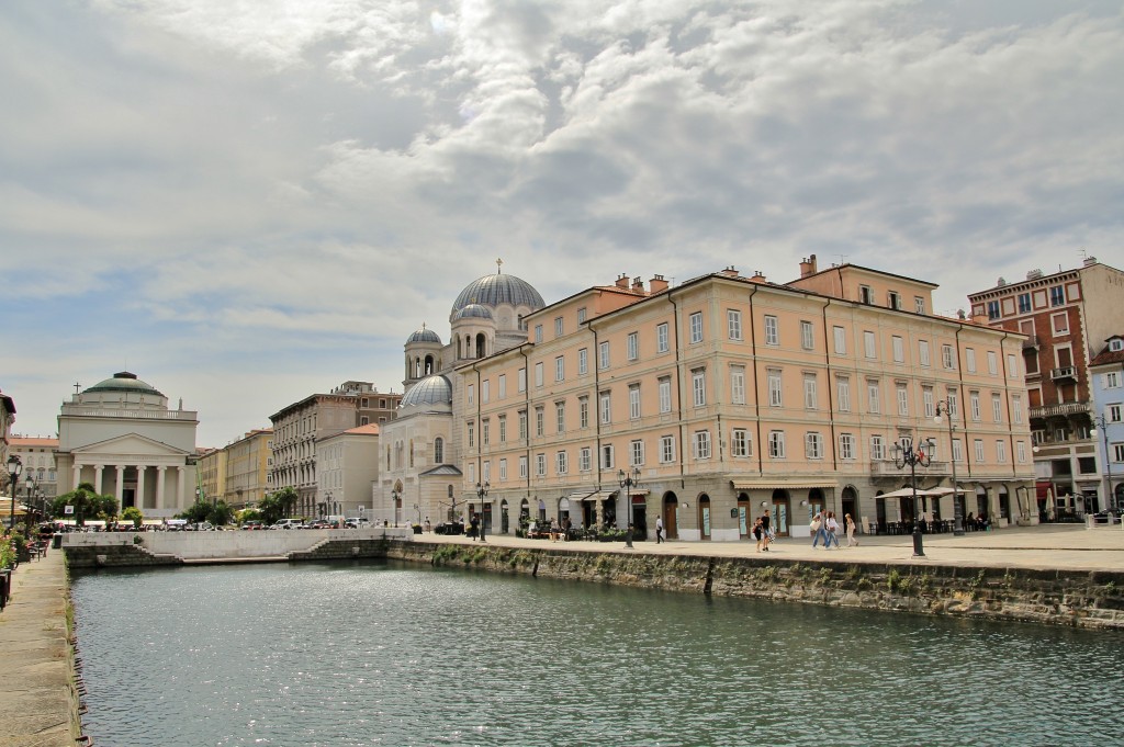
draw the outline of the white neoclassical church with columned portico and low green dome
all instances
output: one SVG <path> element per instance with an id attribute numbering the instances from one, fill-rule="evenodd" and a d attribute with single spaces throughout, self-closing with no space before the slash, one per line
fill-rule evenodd
<path id="1" fill-rule="evenodd" d="M 197 413 L 127 371 L 64 402 L 58 415 L 58 493 L 83 482 L 121 509 L 170 518 L 196 499 Z"/>

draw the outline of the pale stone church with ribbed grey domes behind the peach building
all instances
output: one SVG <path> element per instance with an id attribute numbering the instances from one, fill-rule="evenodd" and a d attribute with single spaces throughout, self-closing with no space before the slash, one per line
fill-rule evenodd
<path id="1" fill-rule="evenodd" d="M 464 434 L 454 410 L 464 402 L 465 365 L 527 341 L 525 317 L 546 304 L 525 280 L 497 272 L 471 283 L 450 310 L 450 339 L 423 325 L 405 344 L 405 394 L 398 417 L 381 431 L 380 480 L 374 519 L 390 523 L 437 523 L 463 517 L 477 502 L 465 488 L 461 464 Z M 468 368 L 471 372 L 471 368 Z M 474 483 L 473 483 L 474 484 Z M 491 502 L 486 502 L 489 526 Z M 480 510 L 477 502 L 473 510 Z"/>

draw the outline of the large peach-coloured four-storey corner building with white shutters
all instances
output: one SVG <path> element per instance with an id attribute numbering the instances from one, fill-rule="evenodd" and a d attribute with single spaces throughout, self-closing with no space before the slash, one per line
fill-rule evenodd
<path id="1" fill-rule="evenodd" d="M 966 514 L 1030 521 L 1024 337 L 933 316 L 934 288 L 812 256 L 787 284 L 622 276 L 537 309 L 527 341 L 452 367 L 461 500 L 492 531 L 522 514 L 652 537 L 661 518 L 669 537 L 729 540 L 768 508 L 806 536 L 821 507 L 889 528 L 913 516 L 880 498 L 909 484 L 892 446 L 912 437 L 935 441 L 919 489 L 950 486 L 954 462 Z M 952 499 L 919 510 L 951 519 Z"/>

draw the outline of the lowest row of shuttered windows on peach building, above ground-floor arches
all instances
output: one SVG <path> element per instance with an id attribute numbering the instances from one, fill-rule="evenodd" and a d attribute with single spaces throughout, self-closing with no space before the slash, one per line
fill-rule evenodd
<path id="1" fill-rule="evenodd" d="M 985 464 L 987 462 L 987 455 L 985 450 L 985 440 L 982 438 L 973 439 L 973 456 L 975 464 Z M 787 434 L 783 430 L 770 430 L 767 437 L 765 454 L 771 459 L 783 459 L 788 457 L 787 450 Z M 1015 443 L 1016 459 L 1019 464 L 1026 464 L 1027 462 L 1027 449 L 1025 441 Z M 598 468 L 599 470 L 615 470 L 617 468 L 616 463 L 616 447 L 613 444 L 605 444 L 598 449 Z M 883 461 L 890 453 L 889 443 L 885 436 L 873 435 L 870 437 L 870 448 L 869 455 L 871 461 Z M 676 436 L 674 435 L 663 435 L 659 437 L 658 446 L 658 461 L 662 465 L 674 464 L 676 463 Z M 729 455 L 732 458 L 749 458 L 753 456 L 753 435 L 746 428 L 734 428 L 731 430 L 729 435 Z M 808 431 L 804 434 L 804 456 L 806 459 L 824 459 L 826 454 L 824 450 L 824 436 L 818 431 Z M 995 440 L 994 449 L 995 463 L 1006 464 L 1007 463 L 1007 441 L 1005 439 Z M 547 474 L 547 457 L 545 452 L 541 452 L 534 457 L 534 474 L 536 477 L 545 477 Z M 709 430 L 697 430 L 691 436 L 691 457 L 695 459 L 709 459 L 713 457 L 713 446 L 710 439 Z M 930 453 L 930 457 L 937 459 L 936 447 Z M 592 458 L 593 448 L 591 446 L 582 446 L 578 449 L 578 471 L 579 472 L 590 472 L 592 470 Z M 645 445 L 643 439 L 634 439 L 628 444 L 628 464 L 629 467 L 644 466 L 646 464 L 645 457 Z M 839 435 L 839 450 L 837 458 L 842 461 L 853 462 L 859 458 L 856 439 L 854 434 L 840 434 Z M 957 463 L 962 463 L 963 449 L 962 441 L 959 438 L 952 440 L 952 461 Z M 1118 459 L 1117 459 L 1118 461 Z M 570 473 L 570 453 L 566 449 L 559 449 L 553 455 L 554 463 L 554 475 L 566 475 Z M 500 458 L 498 461 L 499 467 L 499 480 L 504 481 L 508 479 L 508 461 L 507 458 Z M 482 479 L 484 481 L 491 481 L 491 462 L 486 461 L 481 465 Z M 520 455 L 518 457 L 518 477 L 525 479 L 528 476 L 528 457 L 526 455 Z M 469 465 L 469 482 L 475 482 L 474 465 Z"/>

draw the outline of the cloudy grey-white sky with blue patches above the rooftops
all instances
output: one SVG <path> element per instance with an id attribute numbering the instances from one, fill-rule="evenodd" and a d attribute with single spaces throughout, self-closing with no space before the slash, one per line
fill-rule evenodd
<path id="1" fill-rule="evenodd" d="M 1124 11 L 1078 0 L 11 0 L 0 390 L 224 446 L 401 391 L 473 280 L 1124 267 Z"/>

